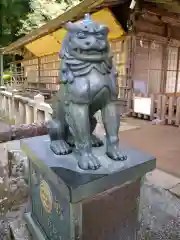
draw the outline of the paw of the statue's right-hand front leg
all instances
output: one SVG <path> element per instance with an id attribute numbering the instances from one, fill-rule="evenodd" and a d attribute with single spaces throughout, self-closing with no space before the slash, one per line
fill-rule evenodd
<path id="1" fill-rule="evenodd" d="M 109 144 L 107 146 L 106 154 L 109 158 L 111 158 L 115 161 L 125 161 L 125 160 L 127 160 L 126 153 L 122 152 L 119 149 L 118 145 Z"/>

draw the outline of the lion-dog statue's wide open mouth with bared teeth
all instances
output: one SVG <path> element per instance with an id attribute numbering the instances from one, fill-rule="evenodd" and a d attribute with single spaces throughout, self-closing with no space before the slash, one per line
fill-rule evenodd
<path id="1" fill-rule="evenodd" d="M 84 49 L 73 49 L 71 54 L 79 60 L 89 60 L 89 61 L 102 61 L 107 58 L 109 51 L 108 49 L 103 50 L 84 50 Z"/>

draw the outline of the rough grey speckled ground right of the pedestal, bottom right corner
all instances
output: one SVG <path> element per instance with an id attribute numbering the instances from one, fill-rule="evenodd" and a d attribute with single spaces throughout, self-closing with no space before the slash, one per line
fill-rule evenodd
<path id="1" fill-rule="evenodd" d="M 141 240 L 180 240 L 180 200 L 146 182 L 140 200 Z"/>

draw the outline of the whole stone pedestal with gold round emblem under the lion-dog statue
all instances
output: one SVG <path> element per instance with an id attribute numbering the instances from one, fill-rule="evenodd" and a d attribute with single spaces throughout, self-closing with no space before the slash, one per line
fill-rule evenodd
<path id="1" fill-rule="evenodd" d="M 74 154 L 56 156 L 48 136 L 22 141 L 29 159 L 31 203 L 25 221 L 34 240 L 136 240 L 140 181 L 155 168 L 155 158 L 122 147 L 126 162 L 93 151 L 96 171 L 78 168 Z"/>

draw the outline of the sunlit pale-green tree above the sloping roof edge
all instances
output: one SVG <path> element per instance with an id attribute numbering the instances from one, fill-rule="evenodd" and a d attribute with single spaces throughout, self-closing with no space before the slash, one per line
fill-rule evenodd
<path id="1" fill-rule="evenodd" d="M 39 28 L 78 4 L 81 0 L 30 0 L 31 11 L 25 20 L 21 20 L 19 34 L 27 34 Z"/>

